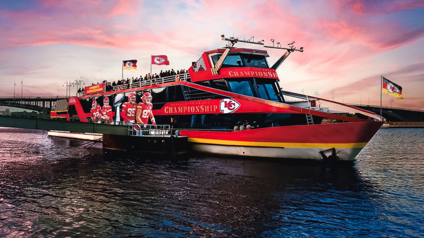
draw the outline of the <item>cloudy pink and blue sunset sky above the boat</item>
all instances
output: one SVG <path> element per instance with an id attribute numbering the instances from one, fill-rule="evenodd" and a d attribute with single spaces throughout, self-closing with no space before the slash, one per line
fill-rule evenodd
<path id="1" fill-rule="evenodd" d="M 0 0 L 0 32 L 0 95 L 14 83 L 20 95 L 21 80 L 24 95 L 119 80 L 122 60 L 138 60 L 125 78 L 145 75 L 152 54 L 170 61 L 153 73 L 188 69 L 225 34 L 304 47 L 277 70 L 284 90 L 379 105 L 383 75 L 404 95 L 383 94 L 383 106 L 424 109 L 424 1 Z M 272 65 L 284 51 L 268 53 Z"/>

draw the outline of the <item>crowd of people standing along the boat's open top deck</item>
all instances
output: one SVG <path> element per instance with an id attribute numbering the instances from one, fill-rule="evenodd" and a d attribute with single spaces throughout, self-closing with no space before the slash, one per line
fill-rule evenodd
<path id="1" fill-rule="evenodd" d="M 107 80 L 104 80 L 102 83 L 105 84 L 106 91 L 113 91 L 113 87 L 115 87 L 115 86 L 128 85 L 128 87 L 131 87 L 131 84 L 135 84 L 135 83 L 138 83 L 138 82 L 150 82 L 150 81 L 154 83 L 157 78 L 168 77 L 168 76 L 173 76 L 173 75 L 177 75 L 177 74 L 181 75 L 181 74 L 185 74 L 185 73 L 188 73 L 188 71 L 184 70 L 184 69 L 177 70 L 176 72 L 174 71 L 174 69 L 165 70 L 165 71 L 161 70 L 161 72 L 159 74 L 154 73 L 154 74 L 150 75 L 150 73 L 148 73 L 144 77 L 143 77 L 143 75 L 140 75 L 139 77 L 135 77 L 135 78 L 132 77 L 132 78 L 127 78 L 127 79 L 124 78 L 123 80 L 113 81 L 112 83 L 108 82 Z M 99 83 L 97 83 L 97 84 L 99 84 Z M 96 84 L 93 83 L 92 85 L 96 85 Z M 84 92 L 84 88 L 78 89 L 77 92 L 78 93 Z"/>

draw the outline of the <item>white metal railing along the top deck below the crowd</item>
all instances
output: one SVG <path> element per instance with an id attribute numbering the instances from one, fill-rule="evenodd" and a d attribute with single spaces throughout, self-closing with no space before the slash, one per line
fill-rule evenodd
<path id="1" fill-rule="evenodd" d="M 171 82 L 175 82 L 175 81 L 187 81 L 189 79 L 190 79 L 190 75 L 188 73 L 176 74 L 176 75 L 171 75 L 171 76 L 166 76 L 166 77 L 152 78 L 151 80 L 148 80 L 148 81 L 143 80 L 143 81 L 139 81 L 139 82 L 136 82 L 136 83 L 116 85 L 116 86 L 113 86 L 112 91 L 108 91 L 108 92 L 119 91 L 119 90 L 124 90 L 124 89 L 131 89 L 131 88 L 139 88 L 139 87 L 145 87 L 145 86 L 152 86 L 152 85 L 158 85 L 158 84 L 165 84 L 165 83 L 171 83 Z M 85 93 L 79 92 L 76 95 L 77 96 L 84 96 Z M 89 94 L 87 94 L 87 95 L 89 95 Z"/>

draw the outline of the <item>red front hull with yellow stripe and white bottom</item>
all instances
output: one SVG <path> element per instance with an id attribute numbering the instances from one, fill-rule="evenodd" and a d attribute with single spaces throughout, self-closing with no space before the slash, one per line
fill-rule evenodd
<path id="1" fill-rule="evenodd" d="M 221 155 L 354 161 L 382 122 L 271 127 L 243 131 L 181 131 L 192 150 Z"/>

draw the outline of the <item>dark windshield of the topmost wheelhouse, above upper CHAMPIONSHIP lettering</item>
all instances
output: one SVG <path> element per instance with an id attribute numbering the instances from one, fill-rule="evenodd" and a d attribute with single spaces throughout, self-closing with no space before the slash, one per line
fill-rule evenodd
<path id="1" fill-rule="evenodd" d="M 214 64 L 218 62 L 220 57 L 221 54 L 212 56 Z M 225 57 L 222 67 L 269 68 L 265 56 L 256 54 L 229 54 Z"/>

